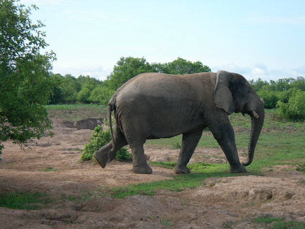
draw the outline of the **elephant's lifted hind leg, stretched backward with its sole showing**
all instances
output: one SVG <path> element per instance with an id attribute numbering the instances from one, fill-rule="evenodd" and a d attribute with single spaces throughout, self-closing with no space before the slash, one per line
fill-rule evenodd
<path id="1" fill-rule="evenodd" d="M 114 145 L 115 148 L 112 149 L 112 140 L 105 146 L 101 147 L 97 152 L 94 153 L 94 158 L 97 164 L 99 164 L 102 168 L 105 168 L 107 163 L 112 161 L 115 158 L 116 153 L 125 145 L 127 145 L 127 141 L 125 136 L 122 134 L 121 130 L 117 127 L 114 131 Z"/>

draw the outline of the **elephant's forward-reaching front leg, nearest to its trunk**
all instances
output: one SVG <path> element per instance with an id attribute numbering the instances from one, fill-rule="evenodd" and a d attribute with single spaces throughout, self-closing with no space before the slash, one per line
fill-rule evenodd
<path id="1" fill-rule="evenodd" d="M 229 118 L 227 117 L 225 121 L 218 119 L 214 123 L 209 128 L 228 159 L 230 172 L 245 172 L 246 169 L 239 161 L 234 130 L 229 122 Z"/>

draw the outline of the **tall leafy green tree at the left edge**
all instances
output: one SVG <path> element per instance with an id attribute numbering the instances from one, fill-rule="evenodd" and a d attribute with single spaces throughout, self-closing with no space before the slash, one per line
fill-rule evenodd
<path id="1" fill-rule="evenodd" d="M 56 58 L 52 51 L 40 53 L 48 46 L 40 31 L 45 25 L 29 18 L 37 9 L 0 0 L 0 142 L 27 145 L 52 128 L 44 105 L 52 93 L 49 75 Z"/>

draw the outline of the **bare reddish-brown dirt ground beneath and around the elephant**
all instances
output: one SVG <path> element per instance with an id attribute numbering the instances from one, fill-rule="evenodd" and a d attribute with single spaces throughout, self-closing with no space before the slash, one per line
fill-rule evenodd
<path id="1" fill-rule="evenodd" d="M 259 229 L 252 222 L 261 215 L 305 221 L 305 184 L 302 173 L 275 167 L 263 176 L 211 178 L 205 185 L 181 192 L 157 190 L 154 196 L 122 199 L 99 196 L 70 201 L 105 186 L 171 179 L 173 171 L 153 167 L 152 174 L 135 174 L 130 162 L 113 161 L 103 169 L 80 163 L 92 130 L 67 128 L 54 120 L 54 137 L 42 137 L 32 149 L 7 142 L 0 161 L 0 193 L 47 192 L 48 208 L 0 208 L 0 229 Z M 145 146 L 150 161 L 176 161 L 179 150 Z M 244 153 L 244 152 L 241 152 Z M 243 158 L 241 158 L 243 160 Z M 191 163 L 224 163 L 221 149 L 197 148 Z M 41 171 L 46 168 L 55 171 Z"/>

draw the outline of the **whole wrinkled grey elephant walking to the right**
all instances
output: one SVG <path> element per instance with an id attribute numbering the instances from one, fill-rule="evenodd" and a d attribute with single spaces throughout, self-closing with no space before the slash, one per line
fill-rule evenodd
<path id="1" fill-rule="evenodd" d="M 180 134 L 182 145 L 174 172 L 189 173 L 186 165 L 206 127 L 226 154 L 230 171 L 245 172 L 244 166 L 252 162 L 264 122 L 263 100 L 243 76 L 226 71 L 190 75 L 143 73 L 122 85 L 108 105 L 109 120 L 114 110 L 116 121 L 113 140 L 94 153 L 94 157 L 105 168 L 116 152 L 129 144 L 135 173 L 152 173 L 144 156 L 146 139 Z M 228 118 L 233 112 L 247 113 L 252 120 L 248 161 L 243 164 Z"/>

